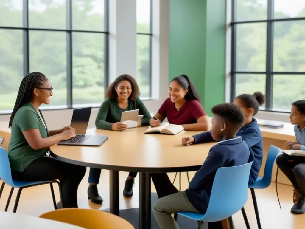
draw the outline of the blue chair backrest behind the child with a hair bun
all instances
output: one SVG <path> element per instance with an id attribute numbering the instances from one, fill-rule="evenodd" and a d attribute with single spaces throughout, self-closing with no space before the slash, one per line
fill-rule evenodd
<path id="1" fill-rule="evenodd" d="M 282 153 L 282 150 L 274 145 L 271 145 L 268 151 L 267 160 L 264 169 L 263 182 L 265 185 L 269 186 L 271 184 L 272 169 L 276 157 L 279 153 Z"/>

